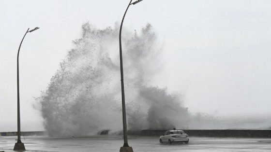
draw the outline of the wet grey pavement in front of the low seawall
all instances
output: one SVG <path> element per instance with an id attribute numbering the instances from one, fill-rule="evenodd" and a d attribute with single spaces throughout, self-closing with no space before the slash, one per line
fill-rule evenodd
<path id="1" fill-rule="evenodd" d="M 16 137 L 0 137 L 0 151 L 14 152 Z M 22 137 L 27 152 L 119 152 L 121 136 Z M 188 144 L 159 143 L 159 137 L 129 136 L 134 152 L 270 152 L 271 138 L 199 138 Z"/>

